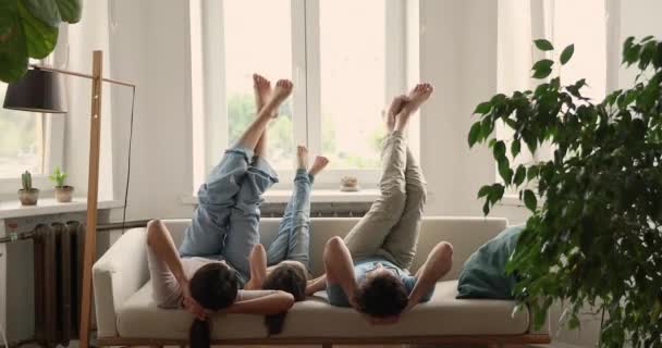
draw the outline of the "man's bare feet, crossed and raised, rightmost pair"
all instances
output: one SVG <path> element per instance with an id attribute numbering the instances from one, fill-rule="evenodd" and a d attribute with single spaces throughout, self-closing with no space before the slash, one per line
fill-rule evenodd
<path id="1" fill-rule="evenodd" d="M 385 114 L 389 133 L 403 130 L 407 126 L 410 116 L 430 98 L 433 91 L 434 87 L 432 85 L 424 83 L 416 85 L 409 94 L 393 98 Z"/>

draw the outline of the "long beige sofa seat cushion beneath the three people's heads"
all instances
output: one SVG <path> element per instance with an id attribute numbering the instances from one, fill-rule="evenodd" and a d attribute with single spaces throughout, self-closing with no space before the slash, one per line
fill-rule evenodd
<path id="1" fill-rule="evenodd" d="M 279 337 L 394 337 L 443 335 L 517 335 L 527 332 L 527 310 L 513 314 L 514 301 L 456 299 L 457 281 L 437 284 L 427 303 L 403 315 L 396 325 L 370 325 L 354 310 L 332 307 L 324 293 L 290 310 Z M 192 316 L 183 310 L 163 310 L 151 300 L 151 284 L 134 294 L 118 311 L 122 337 L 186 339 Z M 262 315 L 216 315 L 213 339 L 267 337 Z"/>

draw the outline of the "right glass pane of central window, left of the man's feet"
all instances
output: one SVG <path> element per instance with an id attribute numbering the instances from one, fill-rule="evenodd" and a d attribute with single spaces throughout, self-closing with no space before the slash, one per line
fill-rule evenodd
<path id="1" fill-rule="evenodd" d="M 375 169 L 385 129 L 385 1 L 320 1 L 322 152 L 335 169 Z"/>

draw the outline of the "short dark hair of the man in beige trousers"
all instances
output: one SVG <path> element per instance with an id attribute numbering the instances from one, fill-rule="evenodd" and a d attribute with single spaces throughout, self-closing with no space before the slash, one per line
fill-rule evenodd
<path id="1" fill-rule="evenodd" d="M 354 296 L 360 312 L 377 318 L 402 313 L 408 301 L 405 285 L 390 272 L 366 279 Z"/>

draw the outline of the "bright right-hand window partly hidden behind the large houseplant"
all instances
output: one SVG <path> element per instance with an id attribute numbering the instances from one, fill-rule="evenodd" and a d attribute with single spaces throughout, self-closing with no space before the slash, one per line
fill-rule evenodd
<path id="1" fill-rule="evenodd" d="M 538 51 L 532 40 L 545 38 L 555 50 L 549 57 Z M 601 101 L 606 92 L 606 11 L 604 0 L 555 1 L 499 1 L 498 88 L 511 95 L 515 90 L 534 89 L 539 79 L 532 79 L 530 67 L 539 59 L 559 61 L 561 50 L 575 45 L 571 62 L 553 74 L 562 84 L 586 78 L 588 87 L 583 95 Z M 511 139 L 512 129 L 503 124 L 497 127 L 497 138 Z M 510 148 L 510 144 L 506 144 Z M 532 164 L 552 158 L 553 148 L 543 144 L 536 153 L 523 149 L 517 161 L 511 164 Z M 510 156 L 510 151 L 508 151 Z M 512 159 L 511 159 L 512 160 Z M 499 173 L 497 179 L 501 181 Z"/>

